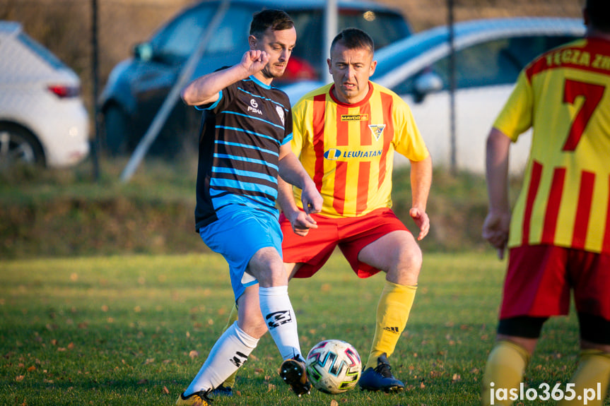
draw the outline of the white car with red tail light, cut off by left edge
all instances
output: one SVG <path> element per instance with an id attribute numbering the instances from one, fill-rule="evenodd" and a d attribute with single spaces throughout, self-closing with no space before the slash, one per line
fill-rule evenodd
<path id="1" fill-rule="evenodd" d="M 20 23 L 0 21 L 0 169 L 68 167 L 89 153 L 81 82 Z"/>

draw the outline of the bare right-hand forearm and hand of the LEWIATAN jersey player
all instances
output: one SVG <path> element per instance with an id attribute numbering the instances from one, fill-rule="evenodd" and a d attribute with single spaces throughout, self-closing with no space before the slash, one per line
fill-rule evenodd
<path id="1" fill-rule="evenodd" d="M 432 185 L 432 158 L 430 155 L 421 161 L 411 161 L 411 195 L 412 203 L 409 215 L 419 227 L 418 241 L 430 231 L 430 217 L 426 213 L 428 195 Z"/>

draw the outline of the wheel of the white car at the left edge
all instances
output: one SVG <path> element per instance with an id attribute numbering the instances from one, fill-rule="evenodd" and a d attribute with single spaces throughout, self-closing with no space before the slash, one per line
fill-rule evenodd
<path id="1" fill-rule="evenodd" d="M 45 153 L 33 133 L 13 124 L 0 124 L 0 168 L 19 164 L 45 165 Z"/>

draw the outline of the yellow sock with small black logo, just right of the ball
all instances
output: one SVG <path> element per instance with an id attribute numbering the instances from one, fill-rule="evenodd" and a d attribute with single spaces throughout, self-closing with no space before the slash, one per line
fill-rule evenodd
<path id="1" fill-rule="evenodd" d="M 385 281 L 377 304 L 377 321 L 373 345 L 370 347 L 368 362 L 364 369 L 377 366 L 377 357 L 385 352 L 387 357 L 392 355 L 394 348 L 402 334 L 413 300 L 416 286 L 397 285 Z"/>

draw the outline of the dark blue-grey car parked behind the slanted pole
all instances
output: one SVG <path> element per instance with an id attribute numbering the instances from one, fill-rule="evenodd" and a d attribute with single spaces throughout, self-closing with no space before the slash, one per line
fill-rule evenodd
<path id="1" fill-rule="evenodd" d="M 180 70 L 204 37 L 220 0 L 201 1 L 172 18 L 148 42 L 134 47 L 134 56 L 120 62 L 110 73 L 100 97 L 105 124 L 105 145 L 112 154 L 133 150 L 150 126 Z M 357 27 L 375 40 L 376 49 L 411 35 L 404 16 L 392 8 L 370 1 L 337 1 L 338 29 Z M 286 73 L 275 85 L 322 76 L 327 56 L 324 42 L 325 0 L 235 0 L 218 30 L 206 45 L 204 57 L 193 77 L 240 61 L 247 49 L 252 14 L 263 8 L 281 8 L 295 21 L 298 40 Z M 197 142 L 199 114 L 177 102 L 151 153 L 175 156 Z M 185 143 L 186 141 L 186 143 Z"/>

